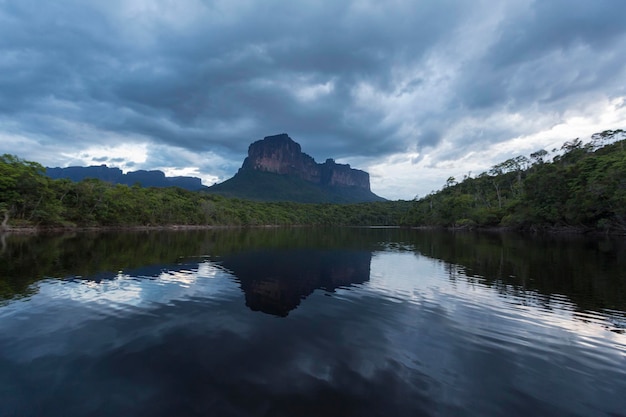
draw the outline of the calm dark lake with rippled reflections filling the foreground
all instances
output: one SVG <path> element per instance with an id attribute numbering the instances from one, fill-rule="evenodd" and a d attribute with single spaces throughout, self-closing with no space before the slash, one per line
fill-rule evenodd
<path id="1" fill-rule="evenodd" d="M 5 235 L 0 415 L 626 416 L 626 244 Z"/>

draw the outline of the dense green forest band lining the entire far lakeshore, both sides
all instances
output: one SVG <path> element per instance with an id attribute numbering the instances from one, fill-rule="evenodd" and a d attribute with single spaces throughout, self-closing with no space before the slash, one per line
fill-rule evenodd
<path id="1" fill-rule="evenodd" d="M 142 188 L 45 175 L 37 162 L 0 156 L 0 220 L 9 227 L 347 225 L 572 228 L 626 232 L 623 130 L 574 139 L 493 166 L 414 201 L 255 202 L 176 187 Z"/>

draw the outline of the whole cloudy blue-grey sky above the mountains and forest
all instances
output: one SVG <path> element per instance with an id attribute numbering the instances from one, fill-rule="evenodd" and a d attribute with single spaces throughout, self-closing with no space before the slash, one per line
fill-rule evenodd
<path id="1" fill-rule="evenodd" d="M 0 154 L 232 177 L 287 133 L 388 199 L 626 128 L 624 0 L 0 0 Z"/>

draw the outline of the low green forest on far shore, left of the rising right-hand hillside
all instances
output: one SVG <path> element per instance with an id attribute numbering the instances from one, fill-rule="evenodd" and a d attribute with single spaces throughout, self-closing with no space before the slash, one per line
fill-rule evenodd
<path id="1" fill-rule="evenodd" d="M 0 157 L 0 216 L 5 227 L 397 225 L 410 204 L 258 202 L 176 187 L 53 180 L 38 163 Z"/>

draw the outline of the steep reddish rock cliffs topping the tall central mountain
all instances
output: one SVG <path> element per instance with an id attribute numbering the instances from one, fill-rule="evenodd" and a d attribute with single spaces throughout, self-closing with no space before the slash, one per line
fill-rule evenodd
<path id="1" fill-rule="evenodd" d="M 370 190 L 367 172 L 350 168 L 347 164 L 337 164 L 332 159 L 318 164 L 284 133 L 267 136 L 250 145 L 241 169 L 295 175 L 320 185 Z"/>

